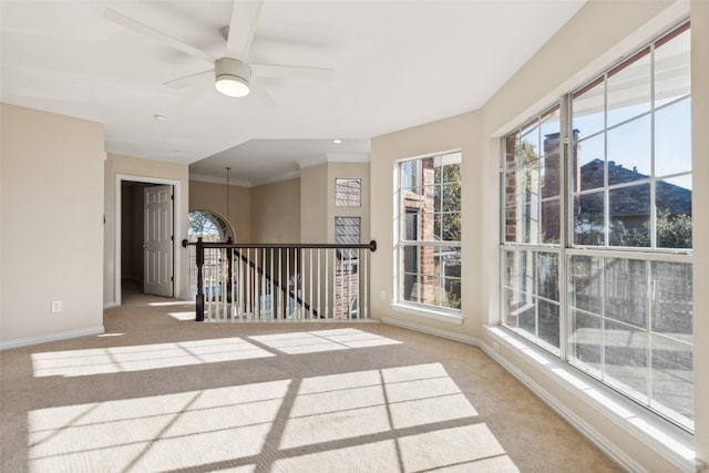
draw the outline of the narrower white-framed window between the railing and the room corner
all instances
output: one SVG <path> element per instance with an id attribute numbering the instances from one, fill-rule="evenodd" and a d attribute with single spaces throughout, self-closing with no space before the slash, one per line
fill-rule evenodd
<path id="1" fill-rule="evenodd" d="M 398 165 L 398 302 L 461 308 L 461 153 Z"/>

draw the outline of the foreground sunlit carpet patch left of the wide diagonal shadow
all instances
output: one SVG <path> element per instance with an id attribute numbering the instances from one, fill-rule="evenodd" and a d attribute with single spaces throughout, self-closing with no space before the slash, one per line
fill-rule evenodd
<path id="1" fill-rule="evenodd" d="M 253 456 L 289 384 L 38 409 L 28 414 L 30 471 L 163 471 Z"/>

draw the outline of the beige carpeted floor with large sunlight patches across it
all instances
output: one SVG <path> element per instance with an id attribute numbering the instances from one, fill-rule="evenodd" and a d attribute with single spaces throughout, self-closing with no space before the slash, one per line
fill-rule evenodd
<path id="1" fill-rule="evenodd" d="M 0 352 L 0 471 L 615 472 L 477 348 L 378 322 L 197 323 Z"/>

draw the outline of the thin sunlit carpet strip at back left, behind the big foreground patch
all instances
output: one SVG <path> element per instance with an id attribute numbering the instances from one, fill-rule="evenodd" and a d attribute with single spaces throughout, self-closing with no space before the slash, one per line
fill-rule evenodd
<path id="1" fill-rule="evenodd" d="M 32 353 L 34 377 L 81 377 L 275 357 L 240 338 Z"/>

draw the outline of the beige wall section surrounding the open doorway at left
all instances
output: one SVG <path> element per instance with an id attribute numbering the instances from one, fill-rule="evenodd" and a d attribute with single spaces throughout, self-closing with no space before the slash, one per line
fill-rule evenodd
<path id="1" fill-rule="evenodd" d="M 166 163 L 140 157 L 109 154 L 104 169 L 104 226 L 103 245 L 103 304 L 115 305 L 120 300 L 117 292 L 116 265 L 116 185 L 121 179 L 153 182 L 175 185 L 175 297 L 182 297 L 185 284 L 186 250 L 181 241 L 187 237 L 187 205 L 189 196 L 189 171 L 185 164 Z M 120 216 L 119 216 L 120 217 Z M 119 271 L 120 273 L 120 271 Z"/>

